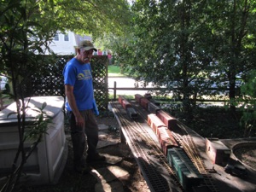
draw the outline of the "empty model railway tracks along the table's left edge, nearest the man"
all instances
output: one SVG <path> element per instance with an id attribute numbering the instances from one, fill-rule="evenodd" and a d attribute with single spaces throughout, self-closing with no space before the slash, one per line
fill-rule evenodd
<path id="1" fill-rule="evenodd" d="M 151 191 L 170 191 L 170 186 L 166 183 L 166 180 L 160 175 L 160 172 L 155 169 L 154 161 L 150 156 L 154 156 L 159 161 L 160 165 L 164 167 L 169 177 L 172 178 L 173 186 L 179 188 L 177 191 L 183 191 L 182 186 L 177 182 L 177 177 L 172 168 L 168 165 L 166 156 L 162 153 L 161 148 L 154 141 L 154 139 L 148 134 L 148 131 L 136 121 L 127 119 L 127 115 L 121 113 L 117 108 L 119 104 L 111 102 L 113 106 L 113 112 L 118 115 L 119 124 L 122 126 L 123 134 L 125 135 L 126 142 L 130 146 L 138 165 L 141 167 L 143 177 L 148 183 L 148 187 Z M 140 112 L 139 112 L 140 113 Z M 140 113 L 142 115 L 142 113 Z M 143 143 L 146 146 L 143 146 Z M 143 147 L 149 148 L 149 151 L 145 153 Z M 172 190 L 174 191 L 174 190 Z"/>

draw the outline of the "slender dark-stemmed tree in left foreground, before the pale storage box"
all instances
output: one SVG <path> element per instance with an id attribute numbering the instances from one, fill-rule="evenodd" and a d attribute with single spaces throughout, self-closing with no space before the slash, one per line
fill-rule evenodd
<path id="1" fill-rule="evenodd" d="M 39 3 L 34 1 L 9 1 L 1 2 L 0 9 L 0 39 L 1 39 L 1 55 L 0 59 L 3 63 L 0 71 L 9 76 L 12 82 L 12 94 L 10 97 L 16 102 L 17 111 L 17 129 L 19 132 L 19 146 L 11 173 L 3 185 L 1 191 L 13 191 L 15 185 L 19 182 L 22 168 L 26 163 L 27 158 L 32 154 L 34 148 L 37 147 L 42 135 L 46 131 L 47 120 L 45 120 L 44 106 L 40 110 L 41 116 L 38 117 L 36 125 L 30 129 L 26 125 L 26 109 L 25 102 L 26 82 L 32 73 L 38 71 L 39 65 L 44 65 L 44 54 L 41 49 L 43 45 L 47 48 L 47 44 L 51 35 L 55 33 L 53 26 L 54 22 L 49 20 L 52 12 L 48 11 L 47 16 L 40 12 Z M 45 16 L 45 17 L 44 17 Z M 43 21 L 39 23 L 38 20 Z M 46 29 L 49 29 L 47 31 Z M 46 124 L 45 124 L 46 123 Z M 27 138 L 26 133 L 32 130 L 37 130 L 36 137 L 33 138 L 31 149 L 26 152 L 24 143 Z M 34 132 L 30 132 L 29 137 L 32 137 Z M 18 163 L 20 159 L 20 163 Z"/>

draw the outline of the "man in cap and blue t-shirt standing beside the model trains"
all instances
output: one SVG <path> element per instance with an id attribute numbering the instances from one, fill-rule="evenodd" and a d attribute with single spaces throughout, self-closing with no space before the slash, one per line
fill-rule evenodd
<path id="1" fill-rule="evenodd" d="M 98 126 L 93 110 L 97 111 L 97 108 L 90 69 L 90 59 L 94 50 L 97 49 L 90 41 L 82 41 L 77 55 L 67 62 L 63 70 L 74 170 L 81 173 L 90 172 L 85 160 L 105 160 L 104 156 L 96 152 Z M 84 158 L 84 151 L 87 151 L 87 158 Z"/>

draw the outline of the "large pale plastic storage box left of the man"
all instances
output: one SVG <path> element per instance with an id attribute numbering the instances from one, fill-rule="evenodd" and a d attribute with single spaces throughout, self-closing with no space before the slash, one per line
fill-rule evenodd
<path id="1" fill-rule="evenodd" d="M 26 177 L 22 177 L 21 180 L 28 182 L 28 184 L 56 183 L 61 177 L 67 160 L 64 113 L 62 110 L 64 99 L 61 96 L 35 96 L 31 97 L 29 107 L 41 108 L 44 102 L 47 103 L 44 112 L 52 118 L 52 123 L 48 125 L 48 134 L 44 134 L 42 142 L 38 144 L 24 166 Z M 1 173 L 9 172 L 19 144 L 16 115 L 12 114 L 8 117 L 9 113 L 15 111 L 15 102 L 0 111 Z M 26 112 L 26 122 L 32 122 L 37 114 L 37 112 L 29 109 Z M 26 142 L 25 147 L 30 148 L 31 144 Z"/>

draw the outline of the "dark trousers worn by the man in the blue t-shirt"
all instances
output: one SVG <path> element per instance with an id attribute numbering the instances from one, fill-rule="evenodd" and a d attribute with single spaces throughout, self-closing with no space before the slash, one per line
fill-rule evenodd
<path id="1" fill-rule="evenodd" d="M 73 161 L 76 164 L 84 164 L 84 152 L 93 157 L 96 152 L 98 143 L 98 125 L 94 113 L 91 110 L 80 111 L 84 118 L 85 125 L 80 127 L 76 125 L 76 120 L 73 112 L 67 112 L 67 117 L 70 124 L 70 134 L 73 143 Z M 85 154 L 86 155 L 86 154 Z"/>

